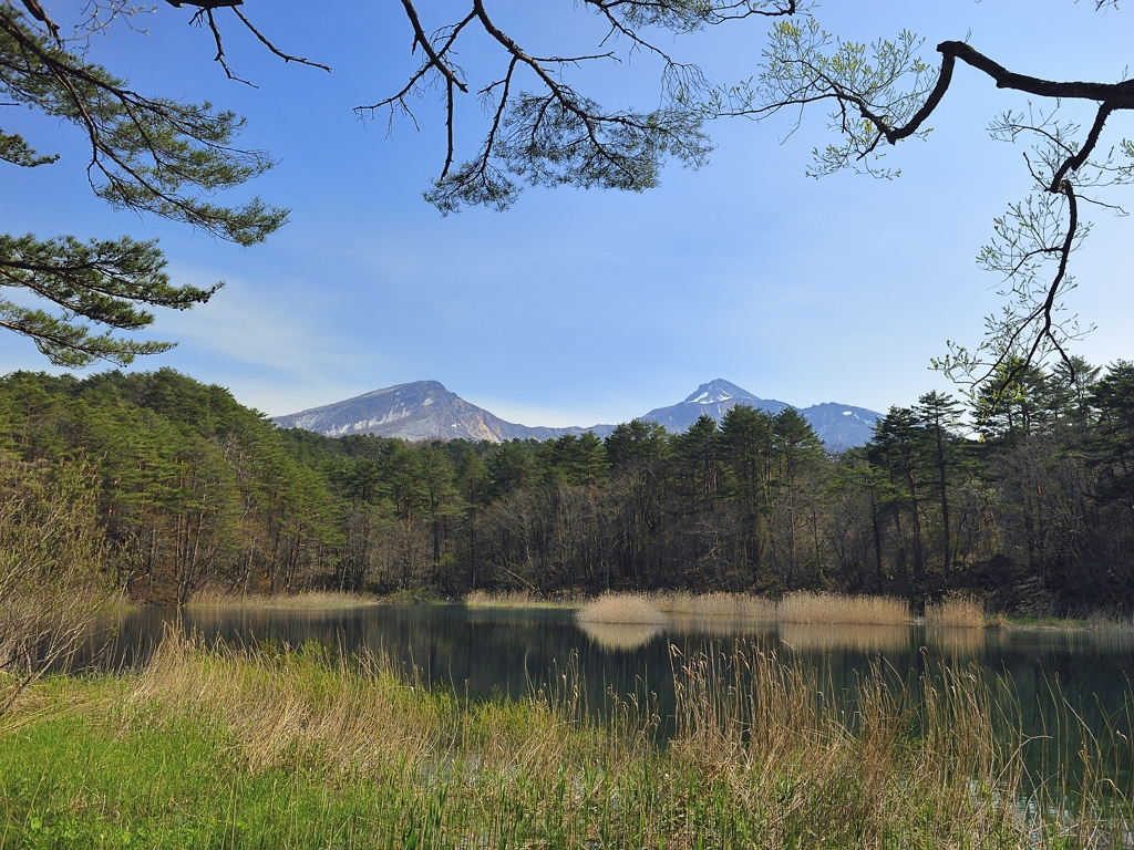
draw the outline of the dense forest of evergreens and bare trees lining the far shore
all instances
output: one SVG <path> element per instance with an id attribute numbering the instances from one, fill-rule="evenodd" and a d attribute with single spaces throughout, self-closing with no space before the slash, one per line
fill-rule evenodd
<path id="1" fill-rule="evenodd" d="M 978 592 L 1005 609 L 1134 601 L 1134 366 L 1006 368 L 891 408 L 826 452 L 737 407 L 547 442 L 407 444 L 276 428 L 170 369 L 0 381 L 0 457 L 90 470 L 102 569 L 143 600 L 521 588 Z"/>

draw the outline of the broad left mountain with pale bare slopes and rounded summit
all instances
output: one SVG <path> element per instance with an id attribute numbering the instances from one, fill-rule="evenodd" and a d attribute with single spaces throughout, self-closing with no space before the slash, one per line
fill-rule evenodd
<path id="1" fill-rule="evenodd" d="M 530 428 L 514 425 L 468 403 L 437 381 L 387 386 L 333 405 L 278 416 L 276 424 L 285 428 L 315 431 L 325 436 L 378 434 L 409 441 L 452 440 L 459 436 L 465 440 L 491 440 L 494 443 L 513 439 L 552 440 L 585 431 L 606 436 L 612 431 L 609 425 L 596 425 L 594 428 Z"/>

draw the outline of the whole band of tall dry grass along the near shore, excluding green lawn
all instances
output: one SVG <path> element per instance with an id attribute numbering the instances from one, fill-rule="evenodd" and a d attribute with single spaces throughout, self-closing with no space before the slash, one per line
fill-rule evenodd
<path id="1" fill-rule="evenodd" d="M 253 773 L 376 782 L 393 802 L 367 840 L 391 847 L 416 835 L 416 847 L 725 848 L 759 835 L 767 847 L 1023 850 L 1123 834 L 1120 808 L 1105 821 L 1098 806 L 1069 806 L 1066 777 L 1027 789 L 1022 806 L 1018 711 L 973 673 L 907 689 L 869 670 L 848 711 L 814 670 L 753 645 L 675 651 L 665 746 L 651 706 L 623 702 L 600 721 L 575 681 L 566 671 L 555 694 L 465 703 L 380 657 L 210 649 L 169 634 L 122 733 L 156 711 L 227 730 Z M 1128 789 L 1083 758 L 1095 773 L 1080 787 L 1123 804 Z M 421 843 L 422 811 L 435 844 Z"/>

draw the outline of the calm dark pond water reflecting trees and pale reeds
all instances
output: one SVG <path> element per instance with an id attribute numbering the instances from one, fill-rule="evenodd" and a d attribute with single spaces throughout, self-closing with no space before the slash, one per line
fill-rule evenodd
<path id="1" fill-rule="evenodd" d="M 421 671 L 425 681 L 472 698 L 523 696 L 577 664 L 590 702 L 602 695 L 654 694 L 658 713 L 672 713 L 670 646 L 685 657 L 728 651 L 735 638 L 776 652 L 788 664 L 815 669 L 835 694 L 853 689 L 872 666 L 916 682 L 941 666 L 978 668 L 1008 683 L 1027 734 L 1050 734 L 1060 694 L 1094 730 L 1131 731 L 1127 711 L 1134 631 L 926 629 L 896 626 L 731 623 L 672 618 L 667 626 L 600 626 L 576 622 L 561 610 L 467 609 L 463 605 L 376 605 L 349 610 L 189 609 L 178 620 L 168 609 L 142 609 L 119 618 L 107 660 L 116 666 L 144 662 L 167 622 L 206 641 L 264 640 L 298 646 L 315 640 L 348 655 L 389 653 Z"/>

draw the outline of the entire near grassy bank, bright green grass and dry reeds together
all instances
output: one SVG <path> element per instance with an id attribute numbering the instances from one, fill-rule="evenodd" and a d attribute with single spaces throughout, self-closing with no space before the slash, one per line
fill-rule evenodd
<path id="1" fill-rule="evenodd" d="M 753 648 L 675 666 L 661 746 L 649 706 L 591 719 L 569 670 L 477 704 L 380 658 L 170 636 L 146 671 L 41 681 L 0 721 L 0 847 L 1025 848 L 1122 826 L 1017 805 L 1022 741 L 990 720 L 1012 708 L 975 678 L 912 703 L 868 675 L 848 714 Z M 1115 800 L 1103 776 L 1086 791 Z"/>

